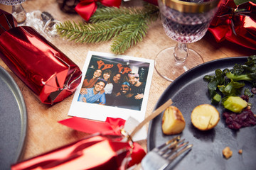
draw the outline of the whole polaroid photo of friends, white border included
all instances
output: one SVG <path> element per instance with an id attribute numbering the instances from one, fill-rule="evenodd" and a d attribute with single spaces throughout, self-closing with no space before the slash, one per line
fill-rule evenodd
<path id="1" fill-rule="evenodd" d="M 68 115 L 105 121 L 145 118 L 154 60 L 88 52 Z"/>

